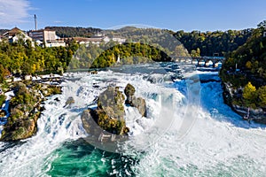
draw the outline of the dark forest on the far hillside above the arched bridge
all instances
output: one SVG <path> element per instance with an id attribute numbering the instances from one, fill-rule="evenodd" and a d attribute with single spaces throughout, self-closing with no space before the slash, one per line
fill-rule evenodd
<path id="1" fill-rule="evenodd" d="M 173 32 L 155 28 L 123 27 L 106 33 L 121 35 L 131 41 L 159 43 L 161 46 L 173 50 L 172 46 L 175 46 L 178 42 L 172 43 L 173 40 L 169 40 L 170 38 L 166 35 L 168 33 L 175 36 L 192 55 L 224 56 L 227 52 L 237 50 L 239 46 L 243 45 L 252 31 L 253 29 L 227 30 L 224 32 L 184 32 L 183 30 Z M 168 41 L 171 41 L 171 43 L 168 43 Z"/>

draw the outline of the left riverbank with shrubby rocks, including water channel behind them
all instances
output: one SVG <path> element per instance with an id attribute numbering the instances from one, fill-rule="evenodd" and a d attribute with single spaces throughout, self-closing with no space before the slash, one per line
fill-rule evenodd
<path id="1" fill-rule="evenodd" d="M 7 82 L 2 107 L 3 125 L 0 141 L 18 141 L 35 135 L 37 119 L 43 112 L 46 97 L 61 93 L 58 77 L 43 77 Z"/>

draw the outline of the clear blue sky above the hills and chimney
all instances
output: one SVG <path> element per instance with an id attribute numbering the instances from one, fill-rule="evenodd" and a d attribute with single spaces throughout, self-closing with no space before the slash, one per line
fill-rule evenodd
<path id="1" fill-rule="evenodd" d="M 140 24 L 174 31 L 256 27 L 265 0 L 0 0 L 0 28 L 100 27 Z"/>

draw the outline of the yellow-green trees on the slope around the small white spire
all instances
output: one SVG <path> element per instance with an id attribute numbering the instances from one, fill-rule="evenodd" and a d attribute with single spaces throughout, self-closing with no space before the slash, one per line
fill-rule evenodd
<path id="1" fill-rule="evenodd" d="M 113 47 L 112 47 L 113 46 Z M 120 61 L 118 61 L 118 59 Z M 101 46 L 90 44 L 81 45 L 76 51 L 69 67 L 103 68 L 113 65 L 132 65 L 152 61 L 170 61 L 171 58 L 158 48 L 140 42 L 118 44 L 115 42 L 102 43 Z"/>

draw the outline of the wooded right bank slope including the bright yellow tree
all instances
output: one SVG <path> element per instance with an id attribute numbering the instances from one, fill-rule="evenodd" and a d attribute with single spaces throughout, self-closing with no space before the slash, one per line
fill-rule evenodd
<path id="1" fill-rule="evenodd" d="M 266 20 L 253 30 L 244 45 L 230 52 L 223 63 L 220 72 L 223 82 L 230 82 L 241 95 L 232 98 L 234 104 L 266 110 L 265 32 Z"/>

